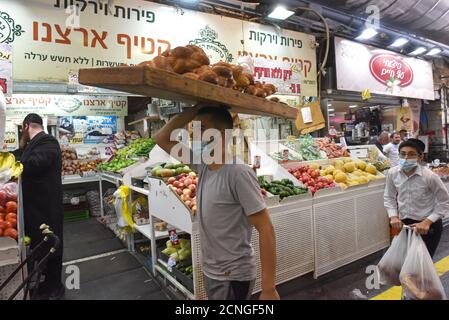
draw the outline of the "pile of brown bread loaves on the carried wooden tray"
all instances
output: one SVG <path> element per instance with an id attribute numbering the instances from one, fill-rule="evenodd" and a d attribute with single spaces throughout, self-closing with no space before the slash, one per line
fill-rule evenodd
<path id="1" fill-rule="evenodd" d="M 239 65 L 226 62 L 211 65 L 203 49 L 194 45 L 176 47 L 163 52 L 152 61 L 145 61 L 139 65 L 175 72 L 190 79 L 206 81 L 261 98 L 271 96 L 277 91 L 272 84 L 254 81 L 254 77 L 245 73 Z"/>

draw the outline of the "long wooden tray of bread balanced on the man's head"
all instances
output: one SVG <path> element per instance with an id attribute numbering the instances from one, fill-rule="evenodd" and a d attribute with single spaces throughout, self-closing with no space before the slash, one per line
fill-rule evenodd
<path id="1" fill-rule="evenodd" d="M 288 119 L 296 119 L 298 113 L 298 109 L 282 103 L 148 66 L 80 69 L 79 82 L 88 86 L 191 104 L 226 104 L 234 113 Z"/>

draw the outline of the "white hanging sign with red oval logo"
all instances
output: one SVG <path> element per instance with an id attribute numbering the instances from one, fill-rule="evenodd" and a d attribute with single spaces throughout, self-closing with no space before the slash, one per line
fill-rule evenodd
<path id="1" fill-rule="evenodd" d="M 337 88 L 434 100 L 432 63 L 335 37 Z"/>

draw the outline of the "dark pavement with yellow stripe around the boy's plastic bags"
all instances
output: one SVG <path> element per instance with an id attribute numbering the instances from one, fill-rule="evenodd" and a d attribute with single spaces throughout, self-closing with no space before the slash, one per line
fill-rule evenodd
<path id="1" fill-rule="evenodd" d="M 287 300 L 365 300 L 375 297 L 383 299 L 398 299 L 395 288 L 383 286 L 380 290 L 368 290 L 365 272 L 370 265 L 376 265 L 382 258 L 383 251 L 368 256 L 353 264 L 330 272 L 317 280 L 312 274 L 305 275 L 278 286 L 281 299 Z M 443 231 L 440 245 L 434 258 L 437 270 L 443 275 L 440 277 L 449 296 L 449 228 Z M 381 295 L 382 294 L 382 295 Z M 386 294 L 386 295 L 385 295 Z M 379 296 L 380 295 L 380 296 Z"/>

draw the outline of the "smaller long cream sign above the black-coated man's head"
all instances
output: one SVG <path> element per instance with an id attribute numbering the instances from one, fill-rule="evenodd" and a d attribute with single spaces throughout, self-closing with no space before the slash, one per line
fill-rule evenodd
<path id="1" fill-rule="evenodd" d="M 126 116 L 126 97 L 14 94 L 6 98 L 7 116 Z"/>

